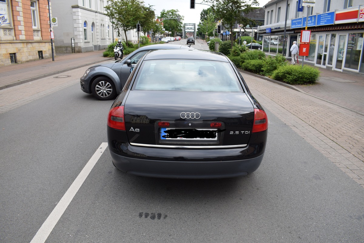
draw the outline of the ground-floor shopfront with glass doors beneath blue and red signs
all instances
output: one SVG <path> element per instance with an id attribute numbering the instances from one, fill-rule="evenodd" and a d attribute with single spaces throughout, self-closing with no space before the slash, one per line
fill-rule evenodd
<path id="1" fill-rule="evenodd" d="M 364 6 L 309 16 L 307 22 L 307 30 L 311 31 L 309 54 L 298 56 L 299 60 L 304 58 L 305 63 L 317 67 L 364 74 Z M 289 49 L 293 41 L 300 46 L 301 30 L 304 30 L 305 24 L 306 17 L 291 20 L 290 28 L 286 31 L 287 58 L 290 58 Z M 282 32 L 262 35 L 266 54 L 283 53 Z"/>

